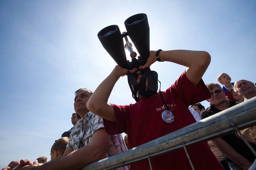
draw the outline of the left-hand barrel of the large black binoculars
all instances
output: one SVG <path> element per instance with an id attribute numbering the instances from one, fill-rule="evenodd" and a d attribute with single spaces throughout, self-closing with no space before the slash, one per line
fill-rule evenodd
<path id="1" fill-rule="evenodd" d="M 102 46 L 116 63 L 123 68 L 127 68 L 124 41 L 119 27 L 117 25 L 110 25 L 103 28 L 98 33 L 98 38 Z"/>

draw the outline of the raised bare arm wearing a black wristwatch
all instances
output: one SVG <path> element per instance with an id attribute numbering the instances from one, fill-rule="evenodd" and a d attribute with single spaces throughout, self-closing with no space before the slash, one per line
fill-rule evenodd
<path id="1" fill-rule="evenodd" d="M 150 51 L 147 63 L 140 68 L 144 69 L 156 62 L 155 56 L 156 51 Z M 161 51 L 159 56 L 162 61 L 169 61 L 188 67 L 186 69 L 186 76 L 195 86 L 203 77 L 211 62 L 210 54 L 205 51 L 170 50 Z"/>

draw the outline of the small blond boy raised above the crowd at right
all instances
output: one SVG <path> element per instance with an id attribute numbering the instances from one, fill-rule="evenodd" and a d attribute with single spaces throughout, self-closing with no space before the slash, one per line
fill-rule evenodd
<path id="1" fill-rule="evenodd" d="M 234 97 L 231 95 L 230 91 L 234 87 L 234 83 L 231 83 L 231 77 L 227 73 L 220 73 L 217 77 L 217 81 L 223 85 L 222 89 L 226 94 L 226 100 L 236 101 Z"/>

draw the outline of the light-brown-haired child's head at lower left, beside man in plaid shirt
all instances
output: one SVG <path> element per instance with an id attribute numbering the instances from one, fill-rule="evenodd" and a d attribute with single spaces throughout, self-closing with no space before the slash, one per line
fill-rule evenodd
<path id="1" fill-rule="evenodd" d="M 51 149 L 51 160 L 63 156 L 66 146 L 68 144 L 68 137 L 63 137 L 55 141 Z"/>

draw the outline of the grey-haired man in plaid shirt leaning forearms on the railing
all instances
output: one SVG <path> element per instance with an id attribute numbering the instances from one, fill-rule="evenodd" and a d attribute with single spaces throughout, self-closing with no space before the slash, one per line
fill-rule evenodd
<path id="1" fill-rule="evenodd" d="M 28 159 L 22 159 L 20 166 L 15 167 L 15 170 L 81 169 L 92 162 L 127 150 L 122 136 L 109 136 L 104 129 L 102 118 L 87 109 L 86 103 L 92 91 L 83 88 L 78 89 L 75 94 L 74 109 L 82 119 L 73 127 L 64 155 L 41 166 L 38 166 L 38 162 L 32 163 Z M 17 164 L 19 165 L 19 162 L 15 162 L 15 166 Z M 125 166 L 125 170 L 129 169 L 130 166 Z M 123 170 L 123 167 L 118 170 Z"/>

